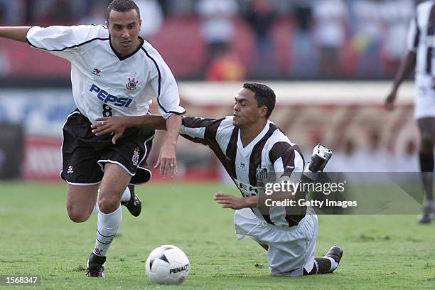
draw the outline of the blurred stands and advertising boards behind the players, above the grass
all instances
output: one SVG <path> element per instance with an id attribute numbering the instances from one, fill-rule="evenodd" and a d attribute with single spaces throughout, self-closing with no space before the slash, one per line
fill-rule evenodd
<path id="1" fill-rule="evenodd" d="M 108 2 L 0 0 L 0 25 L 104 23 Z M 318 142 L 334 149 L 330 171 L 418 170 L 412 83 L 394 112 L 382 107 L 416 1 L 136 3 L 142 36 L 173 70 L 189 115 L 232 114 L 242 81 L 260 80 L 277 93 L 272 121 L 306 156 Z M 69 73 L 65 60 L 0 40 L 0 178 L 60 180 L 61 128 L 75 108 Z M 182 138 L 178 159 L 183 180 L 223 176 L 207 148 Z"/>

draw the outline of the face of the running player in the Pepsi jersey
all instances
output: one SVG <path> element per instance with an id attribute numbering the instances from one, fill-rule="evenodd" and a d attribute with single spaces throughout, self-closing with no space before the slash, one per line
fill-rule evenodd
<path id="1" fill-rule="evenodd" d="M 141 21 L 137 17 L 136 10 L 132 9 L 127 12 L 110 11 L 108 28 L 110 42 L 119 55 L 129 55 L 138 48 Z"/>

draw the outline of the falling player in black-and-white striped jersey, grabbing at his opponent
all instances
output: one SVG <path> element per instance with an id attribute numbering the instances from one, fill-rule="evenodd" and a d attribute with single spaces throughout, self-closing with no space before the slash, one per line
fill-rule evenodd
<path id="1" fill-rule="evenodd" d="M 245 83 L 235 96 L 232 116 L 221 119 L 183 117 L 180 134 L 209 146 L 235 182 L 242 198 L 216 193 L 215 200 L 223 208 L 236 210 L 234 223 L 239 240 L 249 237 L 267 249 L 272 275 L 302 276 L 333 272 L 343 251 L 334 246 L 325 257 L 314 258 L 318 221 L 311 208 L 299 208 L 300 212 L 291 208 L 258 208 L 262 203 L 257 183 L 264 176 L 276 174 L 279 179 L 289 178 L 298 182 L 304 171 L 304 157 L 299 146 L 268 120 L 274 105 L 275 94 L 271 88 Z M 97 136 L 115 132 L 113 141 L 129 127 L 166 129 L 159 116 L 108 117 L 101 120 L 104 124 L 92 125 L 93 132 Z M 317 165 L 311 162 L 306 171 L 323 170 L 330 157 L 330 150 L 316 147 L 313 159 L 321 162 Z M 305 198 L 305 194 L 296 193 L 296 198 Z"/>

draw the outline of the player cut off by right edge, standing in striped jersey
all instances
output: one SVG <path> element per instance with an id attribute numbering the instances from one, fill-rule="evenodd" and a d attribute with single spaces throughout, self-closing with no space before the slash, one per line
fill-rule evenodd
<path id="1" fill-rule="evenodd" d="M 392 91 L 385 100 L 387 109 L 394 109 L 400 84 L 415 70 L 416 96 L 414 117 L 420 131 L 419 161 L 426 205 L 419 222 L 434 220 L 433 194 L 435 145 L 435 2 L 424 1 L 417 6 L 416 16 L 409 24 L 407 54 L 399 66 Z"/>

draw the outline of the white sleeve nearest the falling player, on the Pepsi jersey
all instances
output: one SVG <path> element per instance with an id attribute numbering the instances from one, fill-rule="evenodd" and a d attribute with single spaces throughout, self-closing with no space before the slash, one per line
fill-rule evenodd
<path id="1" fill-rule="evenodd" d="M 177 82 L 171 69 L 154 48 L 150 50 L 150 53 L 149 58 L 157 68 L 157 75 L 151 80 L 151 87 L 157 96 L 159 113 L 165 119 L 168 119 L 171 114 L 185 114 L 186 109 L 180 106 Z"/>

